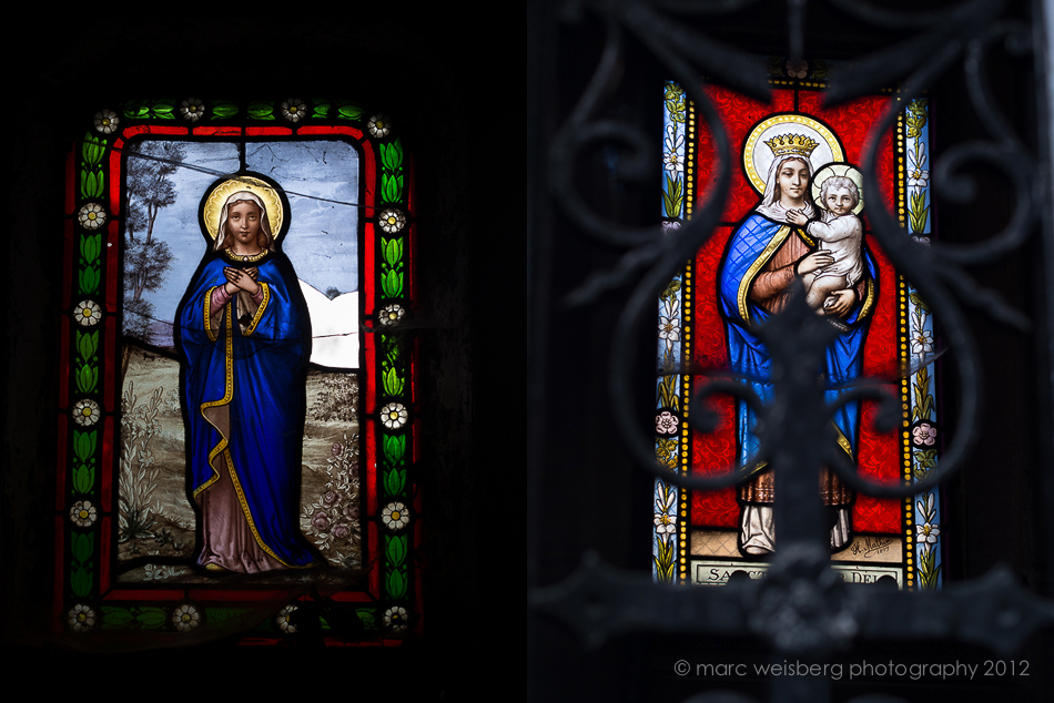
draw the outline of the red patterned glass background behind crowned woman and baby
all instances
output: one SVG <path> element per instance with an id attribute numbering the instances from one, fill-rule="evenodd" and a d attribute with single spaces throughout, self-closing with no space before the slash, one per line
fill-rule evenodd
<path id="1" fill-rule="evenodd" d="M 717 111 L 729 133 L 729 143 L 733 153 L 732 177 L 728 202 L 722 215 L 722 225 L 710 241 L 699 251 L 693 267 L 695 275 L 695 316 L 692 319 L 691 354 L 696 365 L 702 368 L 727 368 L 728 349 L 724 339 L 724 326 L 717 306 L 718 265 L 734 225 L 744 218 L 758 204 L 760 195 L 754 191 L 744 174 L 740 154 L 750 130 L 763 119 L 779 112 L 799 112 L 815 118 L 834 132 L 841 141 L 845 161 L 862 163 L 862 153 L 872 126 L 888 109 L 888 96 L 870 96 L 852 101 L 833 109 L 823 108 L 821 91 L 808 89 L 777 89 L 772 91 L 769 105 L 744 98 L 728 89 L 707 86 L 707 94 L 713 100 Z M 886 133 L 882 137 L 878 164 L 883 206 L 893 207 L 894 154 L 893 136 Z M 706 125 L 700 124 L 697 139 L 697 152 L 692 170 L 696 208 L 709 197 L 721 155 L 715 153 L 712 136 Z M 689 180 L 692 176 L 689 175 Z M 691 192 L 691 186 L 689 186 Z M 864 376 L 895 377 L 900 359 L 898 357 L 896 334 L 896 278 L 885 255 L 869 236 L 866 210 L 861 217 L 864 223 L 864 242 L 879 265 L 878 303 L 868 340 L 864 346 Z M 696 377 L 699 387 L 703 378 Z M 893 388 L 895 391 L 895 387 Z M 720 418 L 712 434 L 693 431 L 691 437 L 691 470 L 697 475 L 708 475 L 726 470 L 736 460 L 736 420 L 733 401 L 729 397 L 711 400 L 711 408 Z M 858 463 L 862 475 L 873 479 L 895 480 L 900 471 L 900 450 L 895 434 L 879 434 L 873 428 L 875 406 L 864 403 L 860 427 L 860 449 Z M 738 524 L 740 507 L 736 500 L 736 489 L 719 491 L 695 491 L 691 497 L 690 523 L 696 527 L 734 528 Z M 879 500 L 868 496 L 858 496 L 853 505 L 853 524 L 860 532 L 900 533 L 902 531 L 900 509 L 895 500 Z"/>

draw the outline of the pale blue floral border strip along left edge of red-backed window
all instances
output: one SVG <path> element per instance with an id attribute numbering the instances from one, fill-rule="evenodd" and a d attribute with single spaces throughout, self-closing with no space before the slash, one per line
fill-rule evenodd
<path id="1" fill-rule="evenodd" d="M 663 228 L 676 230 L 687 217 L 685 196 L 687 109 L 685 91 L 676 83 L 663 88 L 662 151 L 662 223 Z M 663 373 L 656 383 L 656 456 L 665 466 L 677 470 L 687 451 L 681 451 L 679 437 L 687 440 L 688 427 L 680 391 L 682 378 L 669 374 L 680 366 L 686 309 L 687 276 L 675 276 L 659 296 L 659 344 L 656 361 Z M 682 314 L 683 313 L 683 314 Z M 661 479 L 655 481 L 655 531 L 652 543 L 652 578 L 660 583 L 676 580 L 675 567 L 680 544 L 677 513 L 680 491 Z"/>

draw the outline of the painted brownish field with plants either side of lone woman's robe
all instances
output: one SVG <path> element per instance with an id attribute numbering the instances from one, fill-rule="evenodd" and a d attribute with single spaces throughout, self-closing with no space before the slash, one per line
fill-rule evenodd
<path id="1" fill-rule="evenodd" d="M 121 562 L 189 558 L 194 550 L 179 375 L 175 359 L 143 348 L 130 354 L 122 391 Z M 345 569 L 357 569 L 362 559 L 357 404 L 355 374 L 308 373 L 301 530 L 331 566 Z M 192 574 L 184 567 L 146 563 L 122 580 L 172 581 Z"/>

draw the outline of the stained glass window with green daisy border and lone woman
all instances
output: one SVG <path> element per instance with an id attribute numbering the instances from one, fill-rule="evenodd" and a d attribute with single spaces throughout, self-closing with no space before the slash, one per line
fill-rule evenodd
<path id="1" fill-rule="evenodd" d="M 397 123 L 341 100 L 100 105 L 65 205 L 57 626 L 419 634 Z"/>

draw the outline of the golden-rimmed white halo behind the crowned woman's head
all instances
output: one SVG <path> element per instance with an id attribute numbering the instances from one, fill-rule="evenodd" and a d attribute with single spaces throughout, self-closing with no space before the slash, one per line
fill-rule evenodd
<path id="1" fill-rule="evenodd" d="M 813 173 L 832 161 L 844 160 L 842 145 L 834 136 L 834 132 L 819 120 L 793 112 L 772 115 L 759 122 L 750 131 L 743 145 L 743 169 L 747 171 L 747 180 L 761 194 L 764 193 L 769 166 L 776 159 L 772 144 L 767 143 L 773 140 L 777 143 L 800 140 L 810 145 L 811 142 L 815 142 L 814 146 L 803 150 L 801 154 L 802 159 L 808 159 L 812 163 Z"/>

